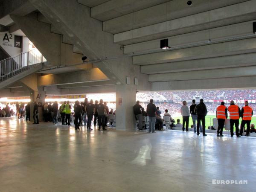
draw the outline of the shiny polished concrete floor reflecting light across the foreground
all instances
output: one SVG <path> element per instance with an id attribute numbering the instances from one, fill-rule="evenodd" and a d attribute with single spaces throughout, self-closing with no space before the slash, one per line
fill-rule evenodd
<path id="1" fill-rule="evenodd" d="M 256 139 L 180 131 L 87 133 L 0 119 L 0 191 L 253 192 Z"/>

